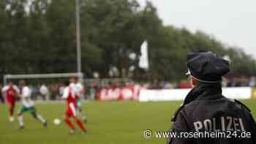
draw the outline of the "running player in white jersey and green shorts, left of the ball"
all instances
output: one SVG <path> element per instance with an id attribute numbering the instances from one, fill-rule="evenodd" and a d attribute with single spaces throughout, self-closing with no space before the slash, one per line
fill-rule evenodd
<path id="1" fill-rule="evenodd" d="M 21 90 L 21 94 L 19 94 L 22 105 L 20 107 L 20 110 L 18 111 L 18 121 L 20 124 L 20 129 L 23 129 L 24 123 L 23 123 L 23 113 L 30 112 L 31 115 L 36 118 L 38 121 L 40 121 L 43 126 L 47 126 L 47 122 L 44 118 L 42 118 L 41 115 L 37 114 L 36 108 L 34 107 L 34 102 L 31 100 L 31 90 L 28 86 L 25 86 L 25 82 L 21 80 L 19 82 L 19 87 Z"/>

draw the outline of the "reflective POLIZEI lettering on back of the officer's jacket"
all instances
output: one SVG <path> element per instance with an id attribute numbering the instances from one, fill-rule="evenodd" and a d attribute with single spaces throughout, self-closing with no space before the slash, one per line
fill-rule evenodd
<path id="1" fill-rule="evenodd" d="M 244 131 L 243 119 L 231 116 L 195 121 L 194 127 L 197 132 Z"/>

